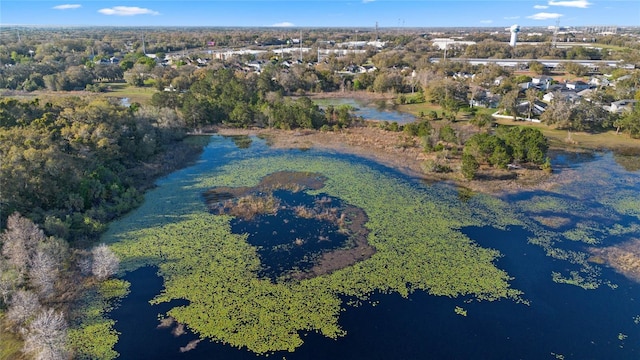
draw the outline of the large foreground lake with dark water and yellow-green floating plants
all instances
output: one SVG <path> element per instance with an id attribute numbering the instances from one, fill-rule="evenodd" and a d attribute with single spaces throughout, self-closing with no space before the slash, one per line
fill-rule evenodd
<path id="1" fill-rule="evenodd" d="M 116 252 L 123 249 L 134 251 L 136 242 L 145 241 L 151 241 L 161 248 L 161 255 L 155 257 L 152 254 L 153 247 L 145 245 L 145 251 L 125 257 L 123 261 L 123 266 L 129 270 L 123 278 L 131 283 L 131 294 L 109 314 L 116 320 L 115 329 L 121 333 L 115 346 L 115 350 L 121 354 L 120 358 L 264 357 L 247 350 L 247 347 L 237 345 L 242 339 L 238 340 L 232 335 L 222 341 L 205 339 L 197 343 L 193 350 L 181 352 L 181 347 L 197 340 L 197 336 L 189 331 L 191 325 L 187 325 L 185 334 L 174 336 L 169 328 L 157 328 L 158 316 L 176 311 L 178 317 L 207 317 L 210 318 L 207 321 L 213 322 L 231 321 L 221 325 L 230 332 L 244 331 L 245 326 L 258 329 L 255 326 L 261 321 L 238 314 L 238 311 L 242 311 L 241 307 L 234 304 L 209 305 L 215 310 L 204 311 L 198 307 L 202 299 L 188 295 L 189 292 L 181 297 L 174 286 L 186 285 L 175 283 L 191 279 L 181 277 L 185 271 L 189 276 L 200 274 L 199 279 L 203 279 L 201 274 L 207 274 L 210 277 L 219 276 L 219 279 L 231 279 L 225 280 L 229 282 L 248 281 L 244 288 L 232 288 L 228 284 L 213 282 L 207 284 L 204 290 L 197 285 L 188 289 L 191 292 L 204 291 L 203 294 L 206 295 L 203 296 L 214 297 L 220 299 L 218 302 L 223 302 L 229 296 L 236 296 L 231 295 L 231 290 L 245 291 L 241 289 L 248 289 L 258 281 L 262 284 L 259 286 L 265 287 L 254 292 L 246 290 L 247 296 L 251 298 L 239 297 L 243 299 L 239 300 L 243 306 L 253 307 L 257 304 L 258 307 L 277 307 L 277 304 L 269 303 L 271 297 L 291 299 L 291 306 L 295 306 L 294 298 L 297 293 L 292 289 L 296 289 L 298 284 L 279 282 L 271 274 L 267 274 L 266 280 L 264 274 L 252 277 L 261 274 L 261 266 L 268 263 L 261 257 L 261 251 L 269 252 L 282 245 L 267 241 L 270 234 L 281 241 L 277 232 L 299 232 L 309 237 L 312 234 L 304 233 L 303 228 L 311 229 L 312 233 L 333 230 L 320 230 L 314 228 L 317 224 L 307 224 L 304 221 L 289 226 L 287 217 L 291 218 L 293 215 L 286 212 L 273 215 L 272 219 L 269 218 L 270 215 L 264 215 L 259 222 L 240 223 L 237 219 L 230 219 L 228 225 L 224 226 L 225 232 L 218 233 L 217 228 L 212 228 L 211 233 L 215 232 L 217 235 L 212 235 L 202 246 L 188 248 L 174 258 L 170 255 L 171 251 L 177 250 L 171 250 L 171 244 L 163 243 L 162 241 L 169 240 L 162 240 L 161 234 L 170 232 L 168 238 L 175 237 L 171 235 L 178 231 L 174 228 L 175 223 L 189 218 L 194 209 L 206 212 L 201 195 L 206 189 L 255 185 L 254 178 L 259 178 L 262 172 L 268 174 L 273 169 L 316 171 L 323 168 L 328 178 L 324 188 L 303 190 L 299 193 L 299 198 L 276 189 L 274 196 L 282 197 L 282 201 L 288 201 L 292 206 L 299 206 L 302 203 L 313 204 L 330 193 L 331 196 L 339 197 L 340 201 L 365 209 L 369 215 L 369 241 L 376 247 L 377 253 L 370 259 L 335 273 L 301 282 L 308 286 L 305 288 L 307 298 L 304 306 L 309 309 L 319 306 L 314 305 L 315 298 L 325 299 L 329 303 L 333 301 L 333 307 L 320 308 L 326 310 L 339 306 L 336 312 L 337 325 L 346 333 L 339 333 L 335 339 L 331 338 L 327 335 L 331 333 L 330 324 L 309 320 L 300 330 L 289 330 L 293 331 L 291 334 L 300 334 L 302 340 L 301 343 L 294 343 L 291 349 L 293 352 L 265 351 L 270 354 L 270 358 L 637 359 L 640 356 L 640 306 L 636 303 L 636 299 L 640 299 L 640 286 L 606 264 L 587 261 L 590 248 L 615 246 L 640 235 L 640 213 L 636 206 L 640 203 L 638 172 L 625 170 L 616 163 L 612 154 L 554 153 L 552 161 L 558 169 L 559 182 L 556 188 L 550 191 L 522 191 L 500 198 L 484 195 L 472 195 L 469 198 L 458 196 L 457 189 L 449 185 L 423 184 L 393 169 L 355 156 L 316 150 L 272 150 L 260 139 L 251 140 L 249 146 L 238 148 L 232 139 L 212 137 L 197 164 L 159 181 L 158 188 L 146 195 L 145 205 L 114 223 L 105 235 L 105 240 L 112 243 Z M 264 162 L 260 159 L 264 159 Z M 332 170 L 334 163 L 337 167 Z M 266 168 L 262 170 L 264 166 Z M 353 182 L 358 187 L 353 193 L 340 191 L 347 186 L 340 174 L 348 172 L 349 167 L 362 171 L 357 173 L 359 180 Z M 244 175 L 245 172 L 255 173 L 255 176 L 245 179 L 243 176 L 248 176 Z M 368 190 L 372 182 L 377 182 L 380 187 L 376 190 L 374 186 L 373 190 Z M 378 213 L 380 208 L 371 204 L 374 201 L 371 196 L 361 199 L 358 195 L 368 194 L 369 191 L 376 194 L 377 191 L 378 196 L 384 200 L 387 195 L 386 188 L 383 187 L 393 187 L 390 193 L 395 196 L 391 197 L 395 200 L 387 200 L 386 207 L 396 212 L 395 221 L 384 221 L 387 215 Z M 401 206 L 394 208 L 394 202 Z M 410 222 L 406 222 L 401 215 L 403 209 L 409 209 L 408 213 L 414 214 Z M 219 217 L 212 216 L 207 221 Z M 426 230 L 420 232 L 423 228 Z M 147 237 L 147 233 L 141 232 L 141 229 L 162 230 L 150 233 L 156 237 L 151 239 L 151 235 Z M 387 230 L 389 231 L 386 232 Z M 262 242 L 250 236 L 242 237 L 241 234 L 238 234 L 238 242 L 227 239 L 229 232 L 234 231 L 262 234 L 258 239 Z M 431 233 L 438 234 L 433 242 L 420 240 L 428 238 Z M 181 243 L 180 248 L 199 242 L 198 239 L 203 235 L 198 234 L 205 233 L 197 232 L 193 240 Z M 296 236 L 303 235 L 287 236 L 289 238 L 285 242 L 291 243 Z M 403 240 L 404 236 L 418 237 L 420 241 L 414 243 Z M 327 237 L 330 238 L 330 235 Z M 403 244 L 401 247 L 393 245 L 396 237 L 405 241 L 400 243 Z M 345 240 L 340 238 L 340 241 Z M 439 241 L 443 243 L 440 244 Z M 342 246 L 342 242 L 336 246 Z M 214 252 L 206 252 L 208 247 L 219 243 L 226 245 L 216 248 Z M 452 243 L 457 245 L 439 253 L 440 246 Z M 473 251 L 467 251 L 468 246 Z M 244 254 L 243 259 L 233 260 L 231 255 L 234 253 L 229 252 L 230 262 L 225 265 L 228 272 L 216 274 L 216 269 L 210 262 L 225 261 L 224 257 L 217 254 L 234 247 L 244 249 L 241 252 Z M 460 253 L 462 262 L 458 262 L 457 257 L 450 256 L 460 247 L 465 248 Z M 328 246 L 325 251 L 331 251 L 331 248 Z M 490 256 L 492 253 L 478 253 L 485 248 L 497 250 L 501 255 L 493 258 Z M 397 261 L 394 257 L 396 255 L 389 255 L 397 252 L 402 253 L 400 259 L 404 261 Z M 434 252 L 438 256 L 432 256 Z M 304 257 L 300 253 L 292 254 L 295 254 L 295 259 Z M 486 256 L 489 256 L 489 263 L 483 260 Z M 199 259 L 197 262 L 185 263 L 184 257 Z M 387 259 L 386 265 L 381 258 Z M 236 266 L 245 260 L 250 270 L 249 280 L 229 274 L 244 272 L 244 267 Z M 286 258 L 279 261 L 285 264 L 280 265 L 280 270 L 282 267 L 296 267 L 287 262 Z M 376 267 L 378 261 L 382 264 L 379 268 Z M 442 265 L 438 261 L 445 263 Z M 472 261 L 478 261 L 478 267 L 465 269 Z M 209 269 L 205 273 L 197 270 L 201 262 Z M 492 264 L 495 268 L 489 266 Z M 176 272 L 176 268 L 180 268 L 180 272 Z M 438 271 L 429 273 L 432 269 Z M 367 272 L 373 270 L 376 271 L 375 277 L 369 278 L 370 274 Z M 455 282 L 441 284 L 424 279 L 437 278 L 442 272 L 446 272 L 447 278 L 457 279 L 458 274 L 467 270 L 469 274 Z M 502 277 L 508 281 L 508 288 L 518 290 L 521 294 L 505 295 L 507 293 L 499 281 L 501 277 L 498 270 L 508 274 L 507 278 Z M 166 276 L 166 283 L 158 277 L 158 272 Z M 341 277 L 342 273 L 345 274 L 344 277 Z M 423 276 L 424 274 L 429 276 Z M 497 280 L 492 280 L 494 278 Z M 348 283 L 347 279 L 360 279 L 360 283 L 368 282 L 368 286 L 360 289 L 360 285 Z M 399 282 L 396 284 L 395 281 Z M 491 286 L 485 286 L 485 281 L 491 281 Z M 469 284 L 460 284 L 461 282 Z M 356 288 L 358 291 L 354 290 Z M 447 295 L 451 288 L 453 296 Z M 309 289 L 316 289 L 318 292 L 309 294 Z M 407 290 L 404 294 L 406 296 L 401 296 Z M 218 298 L 218 291 L 224 296 Z M 288 295 L 278 297 L 280 291 Z M 149 304 L 150 300 L 159 296 L 160 301 L 154 301 L 157 304 Z M 257 296 L 262 300 L 254 302 Z M 195 314 L 185 315 L 192 306 Z M 306 310 L 297 311 L 300 316 L 306 316 Z M 269 316 L 268 312 L 259 310 L 248 314 L 257 314 L 254 317 L 260 319 L 265 317 L 265 321 Z M 236 321 L 240 316 L 243 320 Z M 293 323 L 298 320 L 285 316 L 270 321 Z M 224 334 L 216 332 L 219 327 L 202 324 L 199 320 L 194 320 L 193 328 L 199 329 L 200 333 L 210 331 Z M 235 324 L 235 330 L 230 324 Z M 274 332 L 272 335 L 255 336 L 263 339 L 263 342 L 271 342 L 278 334 Z M 241 348 L 228 345 L 229 343 Z M 251 343 L 246 346 L 260 348 Z"/>

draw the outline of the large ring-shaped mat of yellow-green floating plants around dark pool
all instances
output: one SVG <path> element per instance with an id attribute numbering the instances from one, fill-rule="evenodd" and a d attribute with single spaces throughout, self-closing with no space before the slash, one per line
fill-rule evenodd
<path id="1" fill-rule="evenodd" d="M 325 186 L 306 193 L 335 197 L 362 209 L 368 218 L 367 241 L 377 252 L 351 266 L 296 282 L 260 277 L 256 247 L 247 242 L 246 234 L 232 233 L 233 217 L 209 213 L 198 202 L 199 194 L 223 186 L 255 187 L 283 170 L 322 174 Z M 165 289 L 152 303 L 187 300 L 188 305 L 166 315 L 202 338 L 256 353 L 293 351 L 305 332 L 344 336 L 338 324 L 346 305 L 341 296 L 366 300 L 378 291 L 406 297 L 417 290 L 481 300 L 517 300 L 521 295 L 510 287 L 508 274 L 494 265 L 500 254 L 479 247 L 459 230 L 519 223 L 508 213 L 496 214 L 500 211 L 483 203 L 483 196 L 474 196 L 464 208 L 451 207 L 457 194 L 447 187 L 416 189 L 364 165 L 292 155 L 233 162 L 154 192 L 138 211 L 114 224 L 104 240 L 126 271 L 158 266 Z M 504 206 L 499 201 L 496 205 Z"/>

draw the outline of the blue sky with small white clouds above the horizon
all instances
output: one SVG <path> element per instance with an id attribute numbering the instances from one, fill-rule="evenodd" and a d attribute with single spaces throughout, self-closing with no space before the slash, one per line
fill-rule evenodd
<path id="1" fill-rule="evenodd" d="M 640 26 L 637 0 L 2 0 L 1 25 Z"/>

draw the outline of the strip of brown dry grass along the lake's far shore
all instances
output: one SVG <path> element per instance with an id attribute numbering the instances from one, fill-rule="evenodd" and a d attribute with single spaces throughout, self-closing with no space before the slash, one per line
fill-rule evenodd
<path id="1" fill-rule="evenodd" d="M 276 149 L 321 149 L 349 155 L 356 155 L 389 166 L 401 173 L 427 182 L 450 182 L 462 188 L 493 195 L 506 194 L 522 189 L 548 190 L 558 182 L 554 174 L 537 167 L 513 170 L 499 170 L 481 167 L 478 178 L 467 180 L 459 171 L 459 156 L 451 157 L 449 173 L 427 173 L 424 163 L 434 160 L 439 153 L 425 153 L 418 138 L 403 133 L 389 132 L 375 127 L 356 127 L 339 132 L 318 130 L 278 130 L 278 129 L 233 129 L 216 128 L 221 136 L 261 136 L 268 139 Z M 412 141 L 407 146 L 407 141 Z"/>

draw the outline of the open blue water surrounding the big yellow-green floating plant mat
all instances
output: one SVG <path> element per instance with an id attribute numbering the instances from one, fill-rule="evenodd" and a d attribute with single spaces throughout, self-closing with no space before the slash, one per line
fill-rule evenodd
<path id="1" fill-rule="evenodd" d="M 203 173 L 215 173 L 218 167 L 234 161 L 282 152 L 270 149 L 257 138 L 252 139 L 248 148 L 240 149 L 231 139 L 214 136 L 197 164 L 167 176 L 158 186 L 162 188 Z M 288 153 L 307 159 L 336 157 L 364 164 L 411 182 L 417 191 L 449 187 L 422 184 L 393 169 L 354 156 L 316 150 L 290 150 Z M 433 296 L 425 291 L 416 291 L 408 298 L 397 293 L 374 293 L 360 306 L 345 303 L 339 318 L 345 336 L 330 339 L 314 331 L 305 332 L 304 344 L 295 352 L 276 352 L 269 358 L 638 359 L 638 282 L 615 272 L 607 264 L 590 263 L 595 268 L 592 280 L 599 284 L 596 288 L 559 283 L 553 281 L 553 273 L 564 276 L 572 271 L 580 273 L 580 265 L 566 261 L 562 256 L 549 256 L 554 249 L 586 254 L 590 247 L 604 248 L 640 237 L 633 230 L 620 230 L 637 229 L 640 225 L 640 210 L 634 207 L 640 204 L 640 174 L 625 170 L 615 160 L 610 153 L 556 153 L 552 159 L 558 169 L 559 185 L 556 188 L 523 191 L 501 198 L 512 204 L 514 211 L 522 212 L 525 219 L 555 219 L 556 223 L 540 220 L 547 224 L 541 227 L 552 235 L 567 234 L 562 243 L 556 242 L 546 248 L 534 244 L 529 241 L 534 235 L 521 226 L 461 229 L 481 247 L 500 251 L 503 256 L 495 261 L 496 266 L 512 277 L 512 287 L 524 293 L 522 297 L 528 304 L 510 299 L 478 301 L 469 296 Z M 152 191 L 147 196 L 154 194 Z M 465 201 L 461 197 L 452 202 L 451 207 L 464 207 Z M 606 230 L 614 228 L 619 231 Z M 568 240 L 572 237 L 569 234 L 582 234 L 595 240 L 592 244 L 580 239 Z M 587 277 L 585 273 L 580 274 Z M 201 341 L 191 351 L 181 352 L 180 348 L 197 336 L 187 332 L 176 337 L 169 329 L 159 329 L 157 325 L 159 314 L 185 305 L 185 302 L 174 300 L 149 305 L 149 300 L 163 290 L 163 280 L 156 275 L 154 267 L 129 272 L 124 279 L 131 282 L 131 294 L 110 313 L 116 320 L 116 330 L 121 333 L 115 347 L 121 359 L 264 357 L 209 339 Z M 466 316 L 454 312 L 456 306 L 463 307 Z"/>

